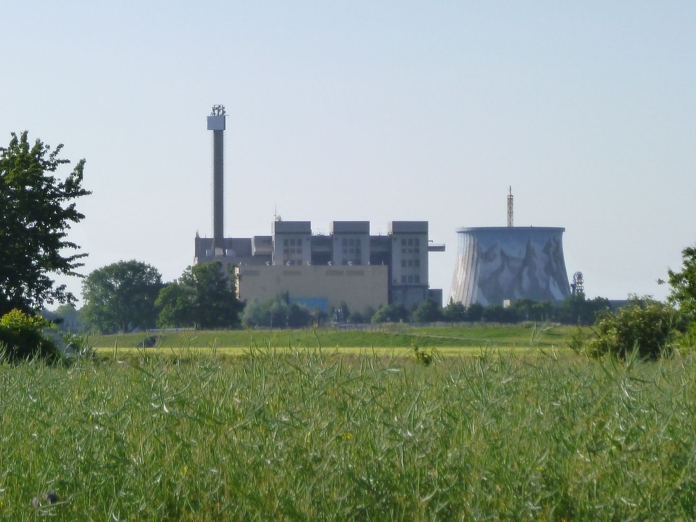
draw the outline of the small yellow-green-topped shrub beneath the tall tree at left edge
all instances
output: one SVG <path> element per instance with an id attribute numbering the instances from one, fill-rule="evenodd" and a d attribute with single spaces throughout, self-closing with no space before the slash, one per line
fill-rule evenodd
<path id="1" fill-rule="evenodd" d="M 43 317 L 32 317 L 11 310 L 0 318 L 2 358 L 17 363 L 31 358 L 56 361 L 61 353 L 56 344 L 45 337 L 42 329 L 49 326 Z"/>

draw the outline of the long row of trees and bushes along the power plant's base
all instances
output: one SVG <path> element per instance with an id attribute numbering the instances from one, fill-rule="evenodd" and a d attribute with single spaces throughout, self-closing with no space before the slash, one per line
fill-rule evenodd
<path id="1" fill-rule="evenodd" d="M 142 261 L 119 261 L 92 271 L 83 281 L 80 310 L 63 306 L 68 326 L 102 333 L 155 328 L 223 329 L 247 326 L 302 328 L 313 324 L 383 322 L 495 322 L 523 321 L 592 324 L 596 313 L 608 310 L 608 299 L 586 299 L 574 294 L 560 303 L 519 299 L 503 307 L 450 300 L 443 307 L 433 299 L 408 310 L 387 305 L 350 310 L 346 303 L 325 313 L 292 303 L 285 292 L 266 301 L 239 301 L 231 267 L 220 262 L 187 267 L 177 280 L 162 281 L 159 271 Z"/>

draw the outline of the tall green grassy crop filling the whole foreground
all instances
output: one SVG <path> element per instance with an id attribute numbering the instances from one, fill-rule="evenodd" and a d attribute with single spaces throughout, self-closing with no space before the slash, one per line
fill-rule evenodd
<path id="1" fill-rule="evenodd" d="M 691 358 L 143 351 L 0 383 L 0 519 L 695 516 Z"/>

